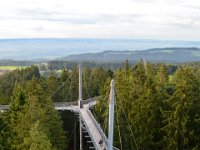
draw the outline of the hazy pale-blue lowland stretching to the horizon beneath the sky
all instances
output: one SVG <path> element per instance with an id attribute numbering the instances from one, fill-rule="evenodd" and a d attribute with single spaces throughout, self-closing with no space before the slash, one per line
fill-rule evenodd
<path id="1" fill-rule="evenodd" d="M 177 40 L 151 40 L 151 39 L 86 39 L 86 38 L 35 38 L 35 39 L 0 39 L 0 60 L 28 60 L 28 61 L 48 61 L 69 55 L 83 53 L 98 53 L 97 55 L 111 56 L 115 53 L 116 58 L 105 58 L 104 60 L 123 60 L 131 58 L 133 60 L 145 57 L 154 59 L 156 55 L 173 55 L 174 52 L 163 51 L 161 53 L 150 53 L 143 51 L 150 48 L 163 47 L 197 47 L 200 48 L 200 41 L 177 41 Z M 162 49 L 160 49 L 162 50 Z M 109 52 L 103 52 L 109 51 Z M 113 52 L 112 52 L 113 51 Z M 118 52 L 126 51 L 126 52 Z M 134 51 L 134 52 L 133 52 Z M 140 52 L 141 51 L 141 52 Z M 159 49 L 158 49 L 159 51 Z M 119 53 L 119 54 L 117 54 Z M 180 54 L 176 55 L 184 56 Z M 194 52 L 193 55 L 197 56 Z M 90 54 L 87 54 L 88 56 Z M 92 55 L 92 54 L 91 54 Z M 71 56 L 70 56 L 71 57 Z M 68 59 L 70 59 L 68 57 Z M 117 58 L 121 57 L 121 58 Z M 136 57 L 136 58 L 134 58 Z M 162 60 L 163 57 L 161 57 Z M 192 57 L 193 58 L 193 57 Z M 195 57 L 195 60 L 198 57 Z M 93 57 L 91 57 L 92 60 Z M 103 58 L 101 58 L 103 60 Z M 156 60 L 159 58 L 156 58 Z M 166 59 L 166 58 L 165 58 Z M 96 59 L 95 59 L 96 60 Z M 97 59 L 100 60 L 100 59 Z"/>

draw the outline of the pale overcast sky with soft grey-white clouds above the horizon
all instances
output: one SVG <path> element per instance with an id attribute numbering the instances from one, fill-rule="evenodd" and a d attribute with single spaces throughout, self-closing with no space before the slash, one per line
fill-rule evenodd
<path id="1" fill-rule="evenodd" d="M 200 40 L 199 0 L 0 0 L 0 38 Z"/>

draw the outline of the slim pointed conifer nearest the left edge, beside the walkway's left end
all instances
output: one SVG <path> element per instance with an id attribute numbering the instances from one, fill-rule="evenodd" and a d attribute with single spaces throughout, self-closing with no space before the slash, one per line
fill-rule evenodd
<path id="1" fill-rule="evenodd" d="M 26 94 L 21 85 L 16 85 L 10 103 L 9 123 L 12 131 L 11 148 L 21 149 L 23 138 L 27 136 L 30 119 L 26 107 Z"/>

